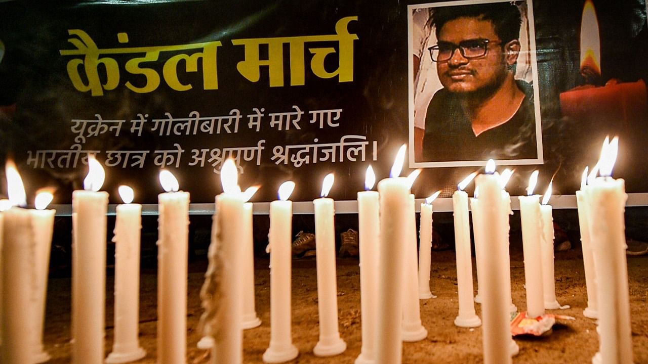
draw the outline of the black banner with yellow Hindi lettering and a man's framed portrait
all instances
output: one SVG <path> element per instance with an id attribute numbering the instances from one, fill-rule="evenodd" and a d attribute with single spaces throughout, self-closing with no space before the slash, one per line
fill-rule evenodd
<path id="1" fill-rule="evenodd" d="M 512 195 L 534 169 L 538 192 L 553 177 L 555 193 L 572 194 L 609 134 L 620 138 L 614 176 L 628 192 L 648 192 L 645 2 L 593 2 L 596 28 L 583 33 L 599 36 L 600 49 L 585 41 L 595 49 L 583 66 L 584 1 L 513 4 L 519 48 L 500 34 L 450 31 L 461 19 L 454 10 L 476 3 L 484 1 L 1 3 L 0 163 L 16 161 L 28 196 L 56 187 L 54 203 L 82 187 L 89 154 L 106 168 L 111 203 L 122 184 L 136 202 L 156 203 L 163 168 L 192 202 L 211 202 L 227 157 L 242 188 L 261 185 L 253 201 L 272 201 L 288 179 L 291 199 L 318 198 L 329 172 L 330 197 L 355 199 L 367 166 L 387 177 L 408 143 L 406 166 L 423 168 L 417 197 L 450 196 L 489 157 L 515 168 Z M 466 63 L 446 74 L 450 51 Z M 491 123 L 480 124 L 467 100 L 494 93 L 467 98 L 450 84 L 467 85 L 498 54 L 508 63 L 492 79 L 514 74 L 517 88 L 480 109 Z M 462 139 L 461 122 L 481 139 Z"/>

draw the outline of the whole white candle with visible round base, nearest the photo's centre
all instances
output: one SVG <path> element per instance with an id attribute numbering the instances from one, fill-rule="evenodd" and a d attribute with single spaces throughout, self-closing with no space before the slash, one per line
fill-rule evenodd
<path id="1" fill-rule="evenodd" d="M 333 174 L 323 183 L 321 198 L 315 205 L 315 248 L 318 271 L 319 341 L 316 356 L 334 356 L 347 349 L 338 330 L 338 288 L 335 266 L 335 227 L 333 199 L 326 198 L 333 185 Z"/>

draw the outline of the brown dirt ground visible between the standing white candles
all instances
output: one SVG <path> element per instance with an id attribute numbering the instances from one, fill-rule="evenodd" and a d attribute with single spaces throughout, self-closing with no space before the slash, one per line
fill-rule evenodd
<path id="1" fill-rule="evenodd" d="M 518 245 L 520 245 L 518 247 Z M 206 260 L 197 259 L 189 267 L 189 307 L 187 310 L 187 363 L 209 363 L 207 352 L 196 348 L 196 331 L 202 310 L 198 293 L 203 282 Z M 338 264 L 338 307 L 340 334 L 347 350 L 339 356 L 316 358 L 312 354 L 318 341 L 318 306 L 316 264 L 314 258 L 294 260 L 292 270 L 292 334 L 299 356 L 290 363 L 353 363 L 360 354 L 360 273 L 357 258 L 341 258 Z M 261 326 L 244 332 L 244 363 L 262 363 L 261 356 L 270 341 L 270 270 L 267 258 L 256 258 L 256 307 Z M 648 256 L 629 256 L 629 280 L 632 315 L 634 362 L 648 363 Z M 475 273 L 473 273 L 476 279 Z M 518 310 L 526 308 L 524 266 L 521 244 L 511 249 L 513 302 Z M 518 338 L 520 354 L 513 363 L 591 363 L 598 348 L 596 324 L 583 316 L 586 290 L 581 251 L 556 253 L 555 277 L 557 299 L 569 304 L 568 310 L 555 311 L 575 317 L 554 326 L 550 336 Z M 49 281 L 45 347 L 52 355 L 48 363 L 70 361 L 70 279 Z M 418 343 L 404 343 L 403 363 L 482 363 L 481 329 L 458 328 L 457 277 L 454 251 L 432 252 L 432 291 L 438 297 L 421 302 L 422 323 L 428 337 Z M 141 274 L 140 344 L 146 358 L 136 363 L 156 363 L 156 271 Z M 113 337 L 113 276 L 107 279 L 106 355 Z M 475 284 L 476 288 L 476 284 Z M 476 304 L 480 315 L 480 305 Z"/>

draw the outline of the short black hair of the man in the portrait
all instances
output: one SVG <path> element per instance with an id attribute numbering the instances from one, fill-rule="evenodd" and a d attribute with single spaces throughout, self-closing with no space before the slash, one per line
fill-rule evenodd
<path id="1" fill-rule="evenodd" d="M 502 44 L 520 38 L 522 18 L 515 1 L 435 8 L 432 11 L 430 23 L 436 27 L 437 39 L 439 39 L 439 33 L 445 23 L 459 17 L 476 17 L 480 20 L 491 21 L 495 28 L 495 34 L 500 37 Z"/>

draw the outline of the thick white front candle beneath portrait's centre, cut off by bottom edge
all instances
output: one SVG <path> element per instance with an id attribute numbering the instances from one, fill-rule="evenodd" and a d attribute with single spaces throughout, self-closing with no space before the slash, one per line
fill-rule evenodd
<path id="1" fill-rule="evenodd" d="M 492 166 L 487 166 L 487 172 L 492 173 L 492 170 L 494 170 L 494 163 Z M 502 344 L 511 342 L 510 292 L 506 290 L 507 274 L 506 267 L 502 264 L 502 256 L 507 255 L 508 250 L 506 247 L 508 234 L 503 222 L 508 210 L 503 203 L 498 174 L 481 174 L 476 177 L 475 183 L 479 188 L 477 208 L 482 219 L 480 230 L 475 231 L 475 234 L 480 234 L 484 244 L 489 247 L 481 251 L 483 272 L 489 273 L 482 275 L 480 282 L 483 288 L 481 312 L 484 363 L 506 364 L 511 363 L 511 353 L 509 350 L 502 350 Z"/>

